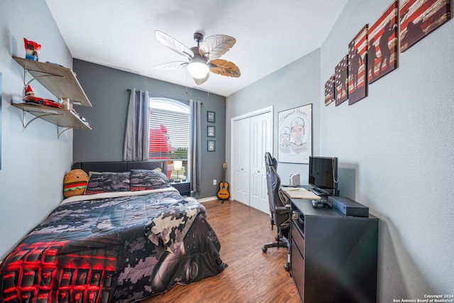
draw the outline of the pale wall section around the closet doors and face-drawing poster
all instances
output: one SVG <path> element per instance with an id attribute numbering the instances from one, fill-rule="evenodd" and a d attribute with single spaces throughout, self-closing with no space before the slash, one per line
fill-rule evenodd
<path id="1" fill-rule="evenodd" d="M 301 41 L 304 43 L 304 41 Z M 296 60 L 287 67 L 277 70 L 258 82 L 250 84 L 245 89 L 227 97 L 226 101 L 226 159 L 231 159 L 231 119 L 248 114 L 258 109 L 273 106 L 274 138 L 278 138 L 277 116 L 279 111 L 285 111 L 297 106 L 313 104 L 314 133 L 319 133 L 319 92 L 320 84 L 320 50 Z M 319 136 L 312 136 L 314 153 L 319 153 Z M 270 152 L 277 157 L 277 141 L 273 142 Z M 264 155 L 265 159 L 265 155 Z M 229 166 L 232 168 L 232 166 Z M 279 162 L 277 171 L 282 184 L 289 182 L 292 173 L 299 173 L 301 183 L 307 183 L 308 165 L 297 165 Z"/>

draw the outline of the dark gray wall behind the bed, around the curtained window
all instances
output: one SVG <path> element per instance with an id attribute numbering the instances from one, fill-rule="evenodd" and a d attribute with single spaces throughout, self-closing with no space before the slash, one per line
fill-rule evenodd
<path id="1" fill-rule="evenodd" d="M 194 99 L 203 103 L 201 192 L 195 197 L 216 197 L 219 187 L 218 184 L 213 184 L 213 180 L 216 179 L 217 182 L 221 180 L 222 164 L 226 154 L 225 97 L 82 60 L 74 60 L 74 72 L 77 73 L 77 79 L 93 105 L 77 108 L 77 112 L 89 121 L 92 131 L 74 130 L 74 162 L 121 161 L 129 102 L 128 89 L 148 90 L 150 97 L 177 99 L 184 104 L 189 104 L 189 100 Z M 206 121 L 206 111 L 216 113 L 215 123 Z M 216 137 L 206 137 L 207 125 L 216 127 Z M 216 141 L 215 152 L 206 151 L 208 139 Z"/>

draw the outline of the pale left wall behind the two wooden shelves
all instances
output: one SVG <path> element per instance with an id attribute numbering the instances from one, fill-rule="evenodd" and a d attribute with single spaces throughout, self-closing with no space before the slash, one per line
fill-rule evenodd
<path id="1" fill-rule="evenodd" d="M 1 1 L 1 259 L 61 202 L 63 177 L 72 162 L 72 131 L 57 138 L 57 126 L 40 119 L 23 131 L 22 111 L 11 106 L 11 99 L 24 94 L 23 68 L 12 58 L 25 57 L 24 37 L 43 45 L 41 62 L 72 67 L 72 57 L 45 1 Z M 31 82 L 31 87 L 37 96 L 55 100 L 38 82 Z M 27 122 L 32 118 L 26 114 Z"/>

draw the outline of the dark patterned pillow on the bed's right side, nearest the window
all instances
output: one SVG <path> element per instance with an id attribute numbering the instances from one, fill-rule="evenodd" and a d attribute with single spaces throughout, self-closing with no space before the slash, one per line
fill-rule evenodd
<path id="1" fill-rule="evenodd" d="M 131 170 L 131 192 L 170 187 L 167 176 L 157 170 Z"/>

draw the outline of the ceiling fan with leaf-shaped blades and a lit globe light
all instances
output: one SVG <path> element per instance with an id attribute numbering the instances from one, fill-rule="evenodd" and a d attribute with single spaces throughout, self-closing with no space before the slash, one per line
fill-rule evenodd
<path id="1" fill-rule="evenodd" d="M 188 59 L 188 61 L 173 61 L 156 65 L 157 70 L 187 67 L 197 85 L 206 82 L 210 76 L 209 72 L 228 77 L 240 77 L 241 75 L 240 69 L 233 62 L 218 59 L 236 43 L 236 39 L 230 35 L 211 35 L 204 40 L 202 33 L 194 33 L 197 46 L 193 48 L 188 48 L 162 31 L 155 31 L 155 36 L 167 48 Z"/>

